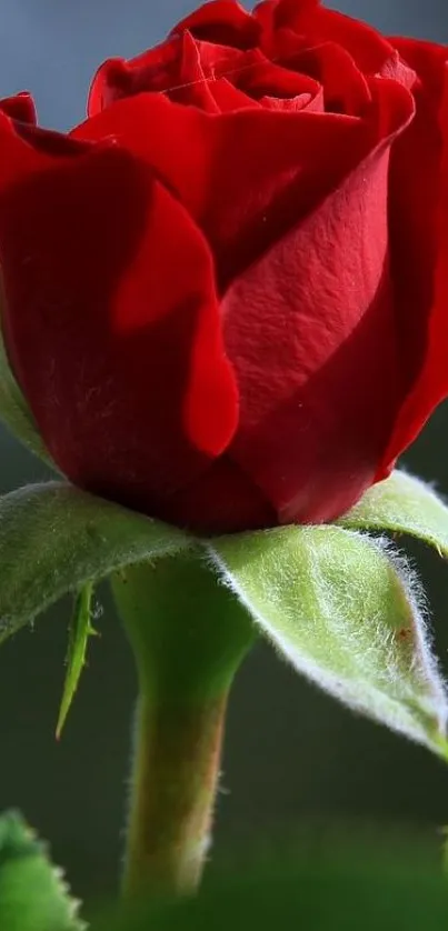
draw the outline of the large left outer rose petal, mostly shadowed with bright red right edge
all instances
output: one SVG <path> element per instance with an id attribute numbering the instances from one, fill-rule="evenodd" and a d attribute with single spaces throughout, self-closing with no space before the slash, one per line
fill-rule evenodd
<path id="1" fill-rule="evenodd" d="M 59 140 L 0 120 L 8 350 L 68 477 L 163 515 L 237 422 L 211 257 L 148 166 Z"/>

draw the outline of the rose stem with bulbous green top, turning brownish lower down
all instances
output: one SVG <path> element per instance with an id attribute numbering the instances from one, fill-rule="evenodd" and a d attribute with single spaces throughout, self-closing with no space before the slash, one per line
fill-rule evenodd
<path id="1" fill-rule="evenodd" d="M 112 590 L 139 680 L 123 892 L 190 893 L 209 847 L 228 693 L 253 629 L 197 555 L 127 569 Z"/>

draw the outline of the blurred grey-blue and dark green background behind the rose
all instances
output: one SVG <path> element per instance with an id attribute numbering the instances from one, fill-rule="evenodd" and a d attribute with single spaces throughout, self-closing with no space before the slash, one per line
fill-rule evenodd
<path id="1" fill-rule="evenodd" d="M 82 119 L 89 78 L 106 57 L 161 39 L 191 0 L 2 0 L 0 96 L 36 96 L 42 123 Z M 336 4 L 335 4 L 336 6 Z M 448 43 L 447 0 L 340 0 L 338 8 L 389 33 Z M 448 309 L 447 309 L 448 312 Z M 448 363 L 448 362 L 447 362 Z M 0 432 L 0 491 L 47 477 Z M 406 457 L 448 493 L 448 408 Z M 427 582 L 436 647 L 448 673 L 448 567 L 415 549 Z M 54 723 L 70 604 L 39 619 L 0 652 L 0 809 L 20 807 L 51 839 L 79 894 L 113 885 L 126 809 L 132 660 L 107 591 L 86 671 L 61 742 Z M 448 771 L 422 749 L 352 717 L 259 647 L 235 688 L 227 730 L 217 849 L 259 845 L 313 821 L 448 822 Z M 218 855 L 218 854 L 217 854 Z"/>

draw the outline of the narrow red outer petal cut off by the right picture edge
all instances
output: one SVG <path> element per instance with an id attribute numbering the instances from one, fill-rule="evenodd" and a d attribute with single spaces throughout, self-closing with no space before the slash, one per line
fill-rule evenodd
<path id="1" fill-rule="evenodd" d="M 418 72 L 417 117 L 394 149 L 392 278 L 406 397 L 377 479 L 448 394 L 448 49 L 392 40 Z"/>

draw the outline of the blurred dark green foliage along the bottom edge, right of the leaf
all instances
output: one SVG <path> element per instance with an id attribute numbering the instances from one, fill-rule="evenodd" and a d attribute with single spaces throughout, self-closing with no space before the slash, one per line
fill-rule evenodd
<path id="1" fill-rule="evenodd" d="M 311 858 L 206 889 L 197 899 L 141 904 L 91 931 L 441 931 L 448 881 L 425 865 Z"/>

